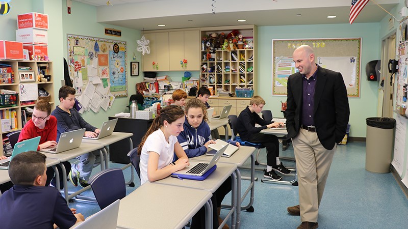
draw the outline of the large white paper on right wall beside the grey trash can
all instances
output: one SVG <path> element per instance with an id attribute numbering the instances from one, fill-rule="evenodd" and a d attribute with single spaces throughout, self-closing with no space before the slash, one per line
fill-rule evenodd
<path id="1" fill-rule="evenodd" d="M 404 117 L 399 115 L 395 120 L 396 128 L 394 139 L 394 156 L 391 164 L 394 166 L 399 176 L 402 177 L 404 167 L 405 135 L 407 121 Z M 406 174 L 405 177 L 407 177 Z"/>

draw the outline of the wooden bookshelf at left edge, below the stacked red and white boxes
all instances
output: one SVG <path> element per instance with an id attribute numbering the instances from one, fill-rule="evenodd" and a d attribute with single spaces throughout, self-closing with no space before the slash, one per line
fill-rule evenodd
<path id="1" fill-rule="evenodd" d="M 21 83 L 30 84 L 32 87 L 34 86 L 33 84 L 37 84 L 38 89 L 43 88 L 49 93 L 49 103 L 54 103 L 54 75 L 52 62 L 0 60 L 0 64 L 2 64 L 2 66 L 0 66 L 0 72 L 9 73 L 9 76 L 13 76 L 14 79 L 0 80 L 0 89 L 11 90 L 20 94 Z M 10 67 L 5 67 L 3 65 Z M 32 74 L 31 76 L 30 73 Z M 45 78 L 48 78 L 49 80 L 46 82 L 39 81 L 38 75 L 40 73 L 42 73 Z M 25 75 L 27 75 L 27 77 L 25 77 Z M 8 83 L 10 81 L 12 83 Z M 38 92 L 35 93 L 38 94 Z M 17 95 L 14 105 L 0 106 L 0 117 L 2 118 L 2 125 L 0 126 L 0 140 L 3 142 L 3 147 L 0 149 L 0 155 L 4 155 L 5 153 L 5 144 L 8 142 L 7 134 L 22 129 L 25 122 L 23 115 L 26 107 L 33 108 L 37 100 L 33 100 L 31 104 L 24 104 L 22 101 L 20 101 L 19 95 Z M 5 101 L 3 101 L 2 104 L 4 104 Z M 7 127 L 9 122 L 7 119 L 10 120 L 10 128 Z"/>

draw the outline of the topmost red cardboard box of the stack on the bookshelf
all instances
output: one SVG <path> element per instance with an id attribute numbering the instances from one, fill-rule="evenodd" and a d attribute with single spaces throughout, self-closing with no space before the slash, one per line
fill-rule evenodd
<path id="1" fill-rule="evenodd" d="M 48 15 L 40 13 L 27 13 L 17 15 L 17 28 L 39 28 L 48 30 Z"/>

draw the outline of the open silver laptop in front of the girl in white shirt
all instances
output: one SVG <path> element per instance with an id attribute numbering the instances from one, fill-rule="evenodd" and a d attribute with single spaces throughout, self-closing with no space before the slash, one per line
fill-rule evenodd
<path id="1" fill-rule="evenodd" d="M 224 153 L 228 146 L 224 146 L 221 148 L 221 150 L 217 151 L 215 154 L 214 158 L 210 161 L 210 163 L 206 162 L 196 162 L 196 161 L 190 161 L 190 166 L 180 170 L 176 171 L 175 173 L 172 173 L 171 175 L 177 176 L 177 175 L 192 175 L 192 176 L 202 176 L 203 174 L 207 173 L 208 170 L 210 170 L 215 164 L 217 164 L 218 160 Z"/>

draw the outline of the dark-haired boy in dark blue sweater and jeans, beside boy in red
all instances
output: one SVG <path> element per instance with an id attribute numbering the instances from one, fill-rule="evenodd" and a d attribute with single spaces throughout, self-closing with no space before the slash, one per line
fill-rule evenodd
<path id="1" fill-rule="evenodd" d="M 85 128 L 86 137 L 98 136 L 100 130 L 91 124 L 87 123 L 80 113 L 73 108 L 75 105 L 75 89 L 69 86 L 62 86 L 58 92 L 60 105 L 51 113 L 57 118 L 57 142 L 60 139 L 61 133 Z M 81 187 L 88 186 L 88 180 L 91 176 L 92 168 L 100 163 L 99 153 L 93 151 L 76 157 L 80 162 L 71 165 L 71 171 L 68 175 L 71 183 L 76 187 L 80 184 Z"/>

